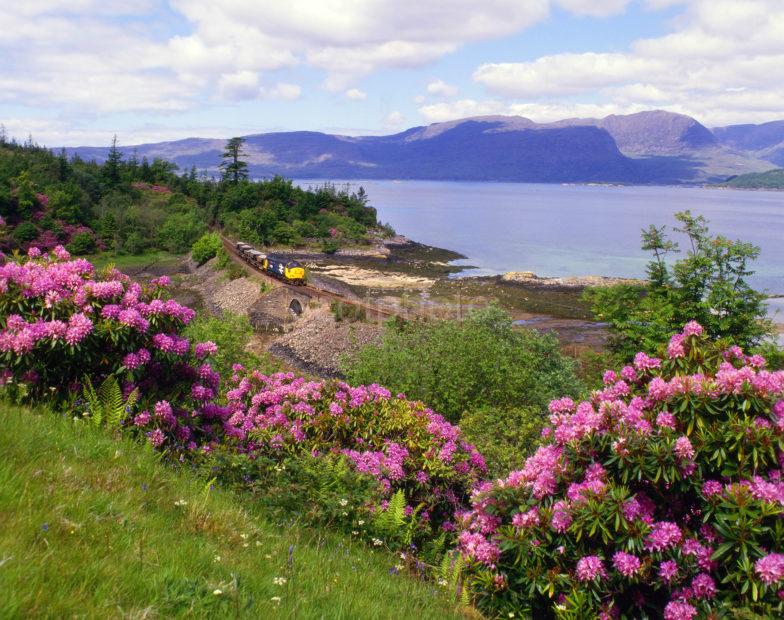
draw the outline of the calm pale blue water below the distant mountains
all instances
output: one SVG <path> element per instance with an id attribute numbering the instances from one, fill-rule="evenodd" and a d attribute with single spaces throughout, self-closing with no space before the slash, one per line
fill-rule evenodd
<path id="1" fill-rule="evenodd" d="M 301 185 L 314 184 L 301 181 Z M 416 241 L 467 256 L 464 274 L 641 277 L 640 229 L 691 209 L 710 229 L 761 248 L 753 284 L 784 294 L 784 192 L 522 183 L 351 181 L 379 219 Z M 674 235 L 681 242 L 680 235 Z M 682 244 L 683 245 L 683 244 Z"/>

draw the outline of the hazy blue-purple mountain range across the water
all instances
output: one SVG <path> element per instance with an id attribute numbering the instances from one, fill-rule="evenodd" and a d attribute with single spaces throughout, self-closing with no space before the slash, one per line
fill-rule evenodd
<path id="1" fill-rule="evenodd" d="M 703 184 L 784 166 L 784 121 L 708 129 L 662 110 L 552 123 L 481 116 L 388 136 L 292 131 L 244 138 L 254 177 Z M 187 138 L 122 150 L 217 174 L 224 145 Z M 97 161 L 107 154 L 105 147 L 66 151 Z"/>

